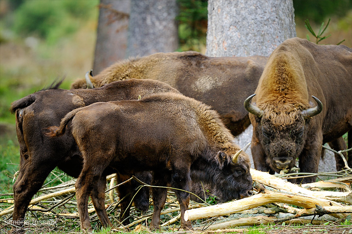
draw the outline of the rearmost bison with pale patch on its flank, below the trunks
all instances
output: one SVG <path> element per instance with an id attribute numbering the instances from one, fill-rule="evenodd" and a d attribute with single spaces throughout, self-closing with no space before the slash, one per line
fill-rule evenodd
<path id="1" fill-rule="evenodd" d="M 262 56 L 211 58 L 193 51 L 156 53 L 119 61 L 91 78 L 91 82 L 100 87 L 129 78 L 163 81 L 218 111 L 236 137 L 250 124 L 243 101 L 254 93 L 266 61 Z M 87 88 L 86 80 L 76 80 L 71 88 Z"/>

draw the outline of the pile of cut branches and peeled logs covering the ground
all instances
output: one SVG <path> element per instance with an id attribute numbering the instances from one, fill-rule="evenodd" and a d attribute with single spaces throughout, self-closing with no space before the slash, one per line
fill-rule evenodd
<path id="1" fill-rule="evenodd" d="M 335 224 L 350 219 L 352 215 L 352 170 L 347 169 L 333 174 L 320 173 L 299 176 L 335 176 L 337 178 L 323 180 L 302 186 L 287 182 L 285 179 L 297 175 L 276 175 L 251 169 L 255 195 L 243 199 L 215 204 L 216 199 L 210 197 L 204 203 L 190 202 L 185 213 L 186 220 L 193 221 L 196 232 L 212 233 L 230 227 L 252 226 L 260 224 Z M 153 215 L 152 207 L 146 213 L 139 213 L 132 206 L 130 219 L 132 222 L 124 226 L 119 221 L 119 198 L 115 188 L 115 176 L 107 176 L 106 209 L 116 231 L 147 230 L 148 222 Z M 132 177 L 131 179 L 133 179 Z M 297 177 L 295 177 L 297 178 Z M 33 198 L 26 214 L 25 228 L 33 231 L 79 231 L 79 216 L 75 199 L 74 180 L 57 186 L 40 190 Z M 141 186 L 148 186 L 146 184 Z M 171 189 L 171 188 L 170 188 Z M 12 197 L 13 194 L 2 194 Z M 13 199 L 0 199 L 0 228 L 11 226 Z M 151 206 L 153 205 L 150 200 Z M 99 219 L 94 207 L 88 205 L 89 219 L 93 225 L 99 226 Z M 165 207 L 161 213 L 163 230 L 178 231 L 180 209 L 176 195 L 168 192 Z M 228 229 L 230 230 L 230 229 Z M 181 233 L 181 232 L 180 232 Z"/>

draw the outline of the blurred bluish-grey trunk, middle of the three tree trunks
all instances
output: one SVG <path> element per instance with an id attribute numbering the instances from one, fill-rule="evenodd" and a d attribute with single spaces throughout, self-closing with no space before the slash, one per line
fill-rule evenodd
<path id="1" fill-rule="evenodd" d="M 178 46 L 176 0 L 131 0 L 128 56 L 174 52 Z"/>

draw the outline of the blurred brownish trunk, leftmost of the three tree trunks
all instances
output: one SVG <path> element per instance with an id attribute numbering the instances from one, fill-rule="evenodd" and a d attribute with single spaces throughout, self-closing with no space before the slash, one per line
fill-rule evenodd
<path id="1" fill-rule="evenodd" d="M 100 0 L 93 73 L 126 58 L 131 0 Z"/>

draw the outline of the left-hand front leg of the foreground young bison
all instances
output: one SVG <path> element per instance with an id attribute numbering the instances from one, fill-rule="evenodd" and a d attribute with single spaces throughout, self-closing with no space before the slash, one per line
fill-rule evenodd
<path id="1" fill-rule="evenodd" d="M 170 173 L 167 171 L 158 171 L 154 172 L 152 185 L 163 186 L 167 185 L 167 181 L 170 181 Z M 167 196 L 166 188 L 152 188 L 152 197 L 154 203 L 154 212 L 152 217 L 151 229 L 159 230 L 160 229 L 160 213 L 164 207 Z"/>

